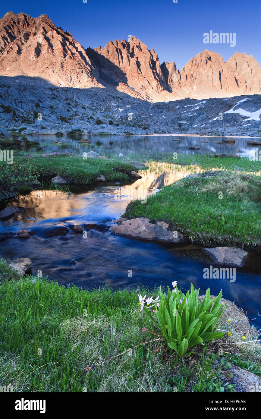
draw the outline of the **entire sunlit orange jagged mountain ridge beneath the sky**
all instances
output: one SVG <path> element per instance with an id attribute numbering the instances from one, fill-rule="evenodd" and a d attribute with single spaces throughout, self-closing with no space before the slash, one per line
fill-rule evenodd
<path id="1" fill-rule="evenodd" d="M 47 15 L 0 19 L 0 75 L 41 77 L 61 87 L 116 88 L 151 102 L 261 93 L 261 67 L 244 52 L 227 62 L 205 49 L 179 71 L 135 36 L 84 49 Z"/>

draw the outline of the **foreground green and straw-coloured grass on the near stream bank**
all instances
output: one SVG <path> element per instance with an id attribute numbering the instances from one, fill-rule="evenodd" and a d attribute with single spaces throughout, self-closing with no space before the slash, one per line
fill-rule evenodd
<path id="1" fill-rule="evenodd" d="M 155 329 L 140 311 L 139 291 L 18 278 L 0 259 L 0 385 L 52 392 L 209 391 L 212 379 L 224 385 L 217 341 L 183 361 L 165 352 L 164 341 L 143 344 L 155 336 L 141 328 Z"/>

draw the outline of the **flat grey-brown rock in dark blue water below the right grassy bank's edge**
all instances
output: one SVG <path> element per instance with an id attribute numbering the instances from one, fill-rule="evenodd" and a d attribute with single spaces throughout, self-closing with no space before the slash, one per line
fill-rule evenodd
<path id="1" fill-rule="evenodd" d="M 245 263 L 248 252 L 236 247 L 213 247 L 204 248 L 203 251 L 213 260 L 213 262 L 230 267 L 241 267 Z"/>

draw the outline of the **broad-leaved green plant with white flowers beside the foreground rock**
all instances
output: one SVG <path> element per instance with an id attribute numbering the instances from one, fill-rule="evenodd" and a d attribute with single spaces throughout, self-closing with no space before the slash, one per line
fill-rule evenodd
<path id="1" fill-rule="evenodd" d="M 155 300 L 149 297 L 146 300 L 147 308 L 144 307 L 146 296 L 142 299 L 139 295 L 139 298 L 142 308 L 144 307 L 143 311 L 160 329 L 168 348 L 177 352 L 180 357 L 184 357 L 188 349 L 223 337 L 222 332 L 216 330 L 217 322 L 225 308 L 222 310 L 220 303 L 222 290 L 211 300 L 208 288 L 202 303 L 199 303 L 199 290 L 195 290 L 192 283 L 190 292 L 188 291 L 186 295 L 178 290 L 176 282 L 172 285 L 173 291 L 171 292 L 168 287 L 167 297 L 161 289 Z M 152 316 L 152 308 L 155 308 L 155 316 Z M 192 352 L 194 351 L 190 351 L 186 356 Z"/>

